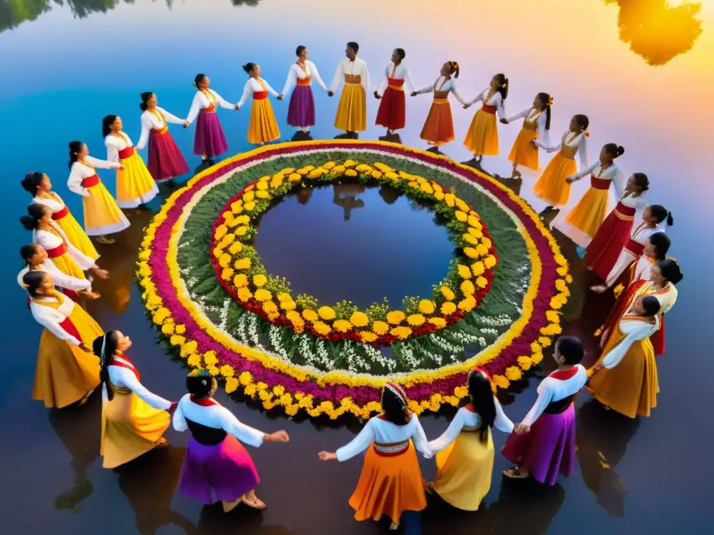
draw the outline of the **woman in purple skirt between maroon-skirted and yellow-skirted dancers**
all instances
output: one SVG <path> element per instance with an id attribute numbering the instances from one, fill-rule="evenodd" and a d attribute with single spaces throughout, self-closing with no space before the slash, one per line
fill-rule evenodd
<path id="1" fill-rule="evenodd" d="M 221 121 L 216 114 L 216 106 L 226 110 L 237 110 L 238 106 L 223 100 L 211 89 L 211 80 L 205 74 L 196 74 L 193 78 L 196 95 L 193 96 L 191 110 L 188 111 L 188 124 L 198 117 L 196 137 L 193 138 L 193 154 L 201 156 L 203 161 L 213 161 L 213 158 L 228 151 L 226 136 L 223 135 Z"/>

